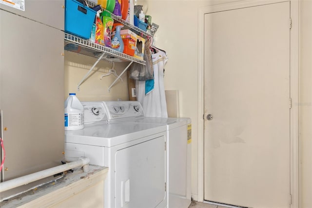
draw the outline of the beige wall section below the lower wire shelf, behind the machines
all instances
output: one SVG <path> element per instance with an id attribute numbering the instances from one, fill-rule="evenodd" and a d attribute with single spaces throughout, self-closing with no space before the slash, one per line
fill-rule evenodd
<path id="1" fill-rule="evenodd" d="M 129 100 L 128 95 L 128 80 L 127 73 L 122 75 L 122 80 L 117 81 L 108 92 L 108 87 L 115 81 L 114 75 L 103 77 L 108 70 L 113 66 L 112 63 L 101 61 L 98 62 L 95 70 L 91 72 L 88 78 L 80 85 L 80 90 L 77 89 L 78 83 L 88 73 L 92 65 L 97 61 L 95 58 L 65 51 L 64 59 L 64 79 L 65 93 L 64 101 L 68 97 L 68 93 L 76 93 L 80 101 L 109 101 L 109 100 Z M 119 75 L 129 62 L 115 63 L 117 75 Z"/>

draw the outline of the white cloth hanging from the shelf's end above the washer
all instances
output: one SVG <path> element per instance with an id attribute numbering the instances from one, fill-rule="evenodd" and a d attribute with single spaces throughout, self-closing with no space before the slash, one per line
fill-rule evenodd
<path id="1" fill-rule="evenodd" d="M 137 100 L 142 104 L 145 116 L 167 118 L 167 104 L 164 87 L 164 65 L 168 61 L 166 54 L 158 50 L 152 54 L 154 87 L 147 90 L 150 81 L 136 81 Z M 146 93 L 146 91 L 148 91 Z"/>

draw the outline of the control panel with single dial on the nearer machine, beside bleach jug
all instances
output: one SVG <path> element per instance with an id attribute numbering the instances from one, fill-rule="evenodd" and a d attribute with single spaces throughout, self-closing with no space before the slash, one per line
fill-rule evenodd
<path id="1" fill-rule="evenodd" d="M 84 124 L 106 123 L 107 113 L 103 102 L 81 102 L 84 109 Z"/>

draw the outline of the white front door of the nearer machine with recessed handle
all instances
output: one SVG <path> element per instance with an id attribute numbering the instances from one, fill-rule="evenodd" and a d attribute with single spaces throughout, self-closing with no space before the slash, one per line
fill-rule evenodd
<path id="1" fill-rule="evenodd" d="M 166 197 L 165 137 L 116 153 L 116 208 L 155 208 Z"/>

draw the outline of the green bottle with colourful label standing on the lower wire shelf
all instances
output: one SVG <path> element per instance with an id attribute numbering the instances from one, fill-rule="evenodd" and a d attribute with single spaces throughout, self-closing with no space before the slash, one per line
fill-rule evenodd
<path id="1" fill-rule="evenodd" d="M 103 40 L 104 45 L 107 47 L 112 47 L 112 29 L 114 20 L 111 18 L 111 13 L 107 11 L 103 11 L 100 14 L 103 22 Z"/>

